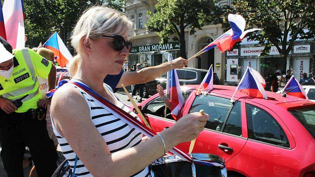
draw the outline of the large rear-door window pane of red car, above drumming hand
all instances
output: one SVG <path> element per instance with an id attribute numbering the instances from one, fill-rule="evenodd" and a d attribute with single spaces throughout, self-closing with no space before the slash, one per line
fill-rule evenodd
<path id="1" fill-rule="evenodd" d="M 232 103 L 227 98 L 213 95 L 198 95 L 195 97 L 189 113 L 199 112 L 203 109 L 209 114 L 205 128 L 221 131 L 227 113 L 232 106 Z"/>

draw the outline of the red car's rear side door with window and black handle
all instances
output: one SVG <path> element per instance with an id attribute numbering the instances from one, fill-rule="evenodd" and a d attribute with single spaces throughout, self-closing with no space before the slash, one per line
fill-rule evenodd
<path id="1" fill-rule="evenodd" d="M 196 95 L 186 106 L 185 112 L 198 112 L 203 109 L 209 114 L 204 130 L 196 139 L 193 153 L 211 153 L 224 158 L 225 162 L 235 156 L 246 143 L 246 137 L 242 127 L 246 128 L 242 117 L 245 118 L 244 112 L 241 111 L 243 100 L 239 99 L 230 102 L 225 95 L 207 94 Z M 179 144 L 184 151 L 188 151 L 190 142 Z"/>

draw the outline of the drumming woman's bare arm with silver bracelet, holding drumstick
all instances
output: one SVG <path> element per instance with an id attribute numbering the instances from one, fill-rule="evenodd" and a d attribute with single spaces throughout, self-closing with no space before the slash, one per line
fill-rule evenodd
<path id="1" fill-rule="evenodd" d="M 134 147 L 110 153 L 90 120 L 87 103 L 75 88 L 64 86 L 55 92 L 51 101 L 51 115 L 57 130 L 93 176 L 130 176 L 164 154 L 158 135 Z M 207 119 L 207 114 L 188 114 L 160 132 L 166 151 L 180 142 L 195 138 Z"/>

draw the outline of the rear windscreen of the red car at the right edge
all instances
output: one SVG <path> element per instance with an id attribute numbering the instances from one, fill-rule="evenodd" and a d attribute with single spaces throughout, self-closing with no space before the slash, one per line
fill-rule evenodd
<path id="1" fill-rule="evenodd" d="M 315 139 L 315 109 L 309 107 L 305 109 L 297 109 L 289 111 L 313 136 Z"/>

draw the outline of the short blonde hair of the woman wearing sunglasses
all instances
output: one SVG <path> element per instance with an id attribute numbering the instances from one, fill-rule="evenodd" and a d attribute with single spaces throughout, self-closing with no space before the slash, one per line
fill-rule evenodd
<path id="1" fill-rule="evenodd" d="M 76 22 L 71 44 L 80 53 L 80 41 L 84 37 L 97 39 L 103 34 L 125 36 L 131 25 L 132 22 L 124 13 L 104 6 L 94 6 L 87 9 Z"/>

